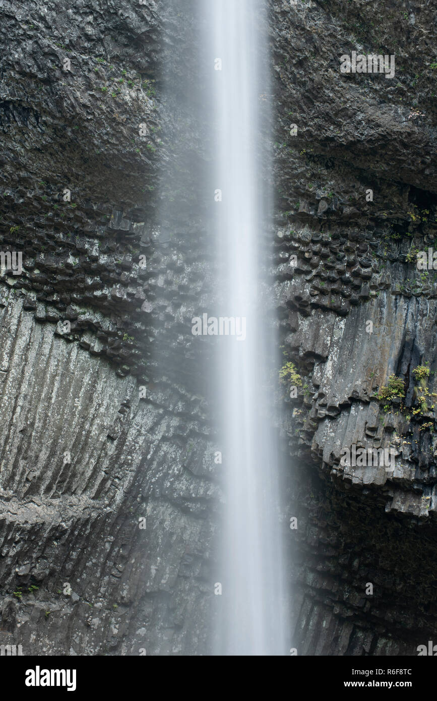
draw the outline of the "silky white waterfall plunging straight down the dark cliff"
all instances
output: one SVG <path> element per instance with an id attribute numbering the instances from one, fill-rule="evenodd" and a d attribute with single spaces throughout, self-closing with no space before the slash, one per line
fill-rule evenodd
<path id="1" fill-rule="evenodd" d="M 284 655 L 278 464 L 267 409 L 275 341 L 261 294 L 269 236 L 268 163 L 261 158 L 269 107 L 265 8 L 261 0 L 200 4 L 211 67 L 207 103 L 221 315 L 246 319 L 245 339 L 217 339 L 226 474 L 218 653 Z"/>

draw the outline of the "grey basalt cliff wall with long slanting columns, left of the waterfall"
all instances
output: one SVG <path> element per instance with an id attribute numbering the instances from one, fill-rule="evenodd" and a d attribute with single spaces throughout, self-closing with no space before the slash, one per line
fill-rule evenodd
<path id="1" fill-rule="evenodd" d="M 190 8 L 1 11 L 0 238 L 22 271 L 0 280 L 0 641 L 200 654 L 219 497 L 190 319 L 209 273 L 181 191 L 156 225 L 162 163 L 201 132 L 156 82 Z"/>

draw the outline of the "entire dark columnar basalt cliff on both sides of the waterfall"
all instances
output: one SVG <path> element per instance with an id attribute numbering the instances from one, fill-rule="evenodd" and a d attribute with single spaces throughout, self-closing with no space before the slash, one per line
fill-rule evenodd
<path id="1" fill-rule="evenodd" d="M 178 92 L 195 95 L 195 3 L 0 8 L 0 245 L 22 252 L 0 278 L 0 643 L 207 654 L 221 476 L 198 371 L 214 343 L 190 320 L 215 261 L 201 100 Z M 436 10 L 269 11 L 269 292 L 301 378 L 291 400 L 277 386 L 292 640 L 415 654 L 437 618 L 437 273 L 415 261 L 437 250 Z M 352 50 L 395 54 L 394 78 L 341 74 Z M 382 402 L 392 374 L 405 393 Z M 353 444 L 394 470 L 342 465 Z"/>

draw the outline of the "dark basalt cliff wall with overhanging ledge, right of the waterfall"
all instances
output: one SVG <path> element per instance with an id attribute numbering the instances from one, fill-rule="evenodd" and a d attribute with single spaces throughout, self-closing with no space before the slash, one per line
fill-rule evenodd
<path id="1" fill-rule="evenodd" d="M 295 396 L 291 382 L 282 392 L 300 463 L 296 647 L 417 654 L 437 613 L 437 278 L 416 265 L 436 240 L 435 8 L 272 2 L 271 13 L 275 294 L 285 359 L 300 373 Z M 353 50 L 394 54 L 393 79 L 341 74 Z M 392 375 L 405 392 L 384 401 Z M 393 469 L 342 463 L 353 446 L 393 451 Z"/>

